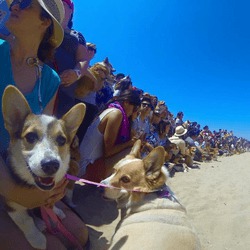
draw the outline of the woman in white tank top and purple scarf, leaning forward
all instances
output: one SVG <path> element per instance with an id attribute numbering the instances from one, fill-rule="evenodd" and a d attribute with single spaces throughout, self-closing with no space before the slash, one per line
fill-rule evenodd
<path id="1" fill-rule="evenodd" d="M 139 93 L 128 89 L 96 117 L 80 144 L 79 176 L 100 182 L 112 173 L 112 164 L 105 165 L 105 159 L 133 146 L 136 138 L 131 138 L 130 118 L 139 105 Z"/>

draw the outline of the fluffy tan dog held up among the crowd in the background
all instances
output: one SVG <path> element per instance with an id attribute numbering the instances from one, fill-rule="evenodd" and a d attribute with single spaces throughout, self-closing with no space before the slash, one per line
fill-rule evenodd
<path id="1" fill-rule="evenodd" d="M 76 98 L 83 98 L 91 91 L 98 91 L 103 87 L 104 81 L 112 81 L 112 66 L 108 62 L 108 59 L 105 58 L 103 62 L 95 63 L 92 67 L 88 69 L 89 73 L 93 75 L 96 79 L 96 83 L 93 82 L 91 78 L 87 75 L 84 75 L 77 81 L 77 86 L 75 89 Z"/>

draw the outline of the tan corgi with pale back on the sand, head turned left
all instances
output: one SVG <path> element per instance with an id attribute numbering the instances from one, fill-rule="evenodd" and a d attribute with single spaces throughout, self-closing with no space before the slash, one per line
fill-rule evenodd
<path id="1" fill-rule="evenodd" d="M 186 210 L 165 184 L 164 148 L 138 159 L 138 140 L 129 155 L 114 166 L 114 174 L 102 181 L 104 197 L 115 200 L 121 220 L 110 249 L 201 249 Z"/>

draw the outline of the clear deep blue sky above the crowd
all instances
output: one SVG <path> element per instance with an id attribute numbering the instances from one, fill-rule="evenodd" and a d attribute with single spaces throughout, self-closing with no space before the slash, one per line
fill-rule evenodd
<path id="1" fill-rule="evenodd" d="M 74 28 L 176 115 L 250 139 L 249 0 L 75 0 Z"/>

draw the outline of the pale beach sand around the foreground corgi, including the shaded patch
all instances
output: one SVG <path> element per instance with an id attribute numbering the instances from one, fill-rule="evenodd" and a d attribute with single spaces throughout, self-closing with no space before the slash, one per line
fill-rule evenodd
<path id="1" fill-rule="evenodd" d="M 186 207 L 202 249 L 250 249 L 250 152 L 201 163 L 167 183 Z M 103 200 L 99 190 L 77 185 L 74 196 L 91 250 L 108 248 L 119 221 L 116 204 Z"/>

